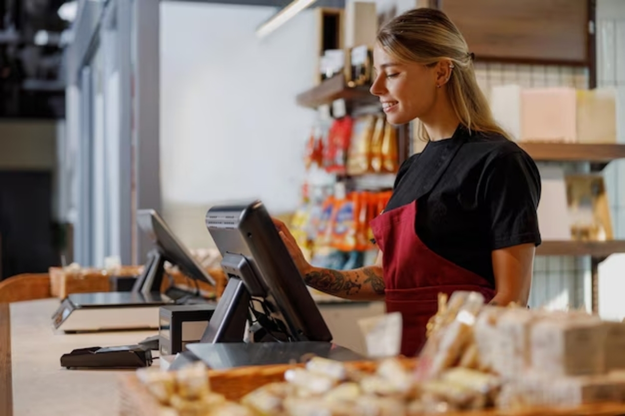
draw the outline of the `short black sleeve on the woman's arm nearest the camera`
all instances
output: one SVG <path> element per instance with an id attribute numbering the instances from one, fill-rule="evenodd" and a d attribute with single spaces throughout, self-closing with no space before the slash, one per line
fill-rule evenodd
<path id="1" fill-rule="evenodd" d="M 541 244 L 537 214 L 541 178 L 534 161 L 522 151 L 512 152 L 497 157 L 489 168 L 482 201 L 491 249 Z"/>

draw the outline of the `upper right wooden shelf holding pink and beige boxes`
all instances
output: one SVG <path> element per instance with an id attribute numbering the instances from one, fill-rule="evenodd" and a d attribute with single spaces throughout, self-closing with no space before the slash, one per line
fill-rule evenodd
<path id="1" fill-rule="evenodd" d="M 625 144 L 517 142 L 534 161 L 607 163 L 625 158 Z"/>

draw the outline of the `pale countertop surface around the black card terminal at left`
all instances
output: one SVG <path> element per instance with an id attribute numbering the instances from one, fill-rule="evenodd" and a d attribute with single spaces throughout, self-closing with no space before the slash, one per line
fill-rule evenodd
<path id="1" fill-rule="evenodd" d="M 131 370 L 67 370 L 59 359 L 77 348 L 136 344 L 156 331 L 64 334 L 52 326 L 58 305 L 0 304 L 0 416 L 118 414 L 118 375 Z"/>

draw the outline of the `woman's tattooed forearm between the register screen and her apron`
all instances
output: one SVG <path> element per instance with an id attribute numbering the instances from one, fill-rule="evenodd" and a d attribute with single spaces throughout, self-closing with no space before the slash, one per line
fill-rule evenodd
<path id="1" fill-rule="evenodd" d="M 321 292 L 346 299 L 379 299 L 384 296 L 384 281 L 379 275 L 381 273 L 373 269 L 313 269 L 304 275 L 304 282 Z M 362 274 L 366 277 L 364 281 Z"/>

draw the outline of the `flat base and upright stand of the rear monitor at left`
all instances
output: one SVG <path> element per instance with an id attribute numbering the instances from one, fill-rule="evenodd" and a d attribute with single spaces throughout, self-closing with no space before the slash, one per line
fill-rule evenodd
<path id="1" fill-rule="evenodd" d="M 158 249 L 148 253 L 148 262 L 131 292 L 71 294 L 52 317 L 55 329 L 64 332 L 158 329 L 159 308 L 174 299 L 161 294 L 165 259 Z"/>

